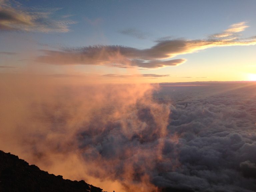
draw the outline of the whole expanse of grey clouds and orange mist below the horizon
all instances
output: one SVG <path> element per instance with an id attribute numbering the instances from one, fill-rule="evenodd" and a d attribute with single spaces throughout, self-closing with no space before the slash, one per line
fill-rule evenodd
<path id="1" fill-rule="evenodd" d="M 256 190 L 254 83 L 46 82 L 1 84 L 2 150 L 108 191 Z"/>

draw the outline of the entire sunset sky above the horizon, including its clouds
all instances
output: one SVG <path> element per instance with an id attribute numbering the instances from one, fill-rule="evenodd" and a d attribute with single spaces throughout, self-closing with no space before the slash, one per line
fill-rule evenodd
<path id="1" fill-rule="evenodd" d="M 0 1 L 0 72 L 256 79 L 256 2 Z"/>

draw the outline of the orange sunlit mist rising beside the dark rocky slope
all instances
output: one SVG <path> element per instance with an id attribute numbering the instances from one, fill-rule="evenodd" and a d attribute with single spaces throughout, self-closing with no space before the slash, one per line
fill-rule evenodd
<path id="1" fill-rule="evenodd" d="M 170 112 L 152 99 L 156 85 L 1 78 L 3 150 L 104 190 L 156 189 L 150 172 L 163 159 Z"/>

